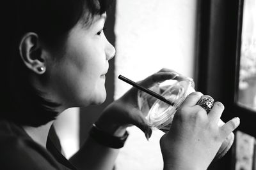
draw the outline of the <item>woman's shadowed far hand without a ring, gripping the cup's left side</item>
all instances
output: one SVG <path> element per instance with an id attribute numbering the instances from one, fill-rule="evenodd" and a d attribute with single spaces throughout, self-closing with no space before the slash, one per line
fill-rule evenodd
<path id="1" fill-rule="evenodd" d="M 150 88 L 156 83 L 164 80 L 177 78 L 177 73 L 170 69 L 161 69 L 159 72 L 148 76 L 143 81 L 138 82 L 141 86 Z M 145 133 L 146 138 L 152 134 L 151 128 L 145 120 L 145 115 L 141 113 L 138 107 L 138 89 L 132 87 L 120 99 L 109 104 L 103 111 L 99 120 L 96 122 L 97 127 L 103 129 L 115 136 L 122 136 L 129 125 L 136 125 Z"/>

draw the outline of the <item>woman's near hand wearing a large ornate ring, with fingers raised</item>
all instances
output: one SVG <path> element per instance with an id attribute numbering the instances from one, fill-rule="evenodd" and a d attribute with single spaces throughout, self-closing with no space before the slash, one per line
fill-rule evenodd
<path id="1" fill-rule="evenodd" d="M 207 169 L 221 143 L 239 125 L 233 118 L 219 127 L 223 104 L 214 103 L 207 114 L 196 105 L 202 94 L 190 94 L 173 118 L 168 131 L 160 140 L 164 169 Z"/>

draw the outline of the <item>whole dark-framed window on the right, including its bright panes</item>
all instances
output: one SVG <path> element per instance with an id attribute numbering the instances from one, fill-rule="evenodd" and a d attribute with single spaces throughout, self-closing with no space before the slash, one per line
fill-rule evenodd
<path id="1" fill-rule="evenodd" d="M 201 1 L 198 90 L 239 117 L 232 149 L 209 169 L 255 169 L 255 1 Z"/>

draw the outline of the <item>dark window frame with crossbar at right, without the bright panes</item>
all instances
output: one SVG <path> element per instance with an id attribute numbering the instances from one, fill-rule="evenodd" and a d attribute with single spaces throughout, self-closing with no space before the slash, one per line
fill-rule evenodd
<path id="1" fill-rule="evenodd" d="M 256 111 L 237 103 L 243 0 L 199 0 L 196 90 L 225 105 L 224 122 L 239 117 L 238 131 L 256 137 Z M 236 83 L 234 83 L 236 82 Z M 209 169 L 235 169 L 236 144 Z"/>

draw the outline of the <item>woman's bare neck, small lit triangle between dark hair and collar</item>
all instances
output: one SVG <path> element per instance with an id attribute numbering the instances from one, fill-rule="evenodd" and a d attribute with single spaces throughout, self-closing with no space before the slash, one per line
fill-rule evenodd
<path id="1" fill-rule="evenodd" d="M 46 148 L 46 141 L 53 121 L 40 127 L 23 126 L 27 134 L 39 145 Z"/>

